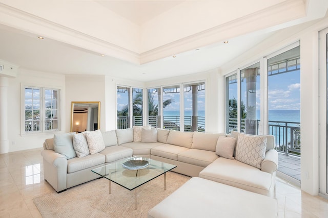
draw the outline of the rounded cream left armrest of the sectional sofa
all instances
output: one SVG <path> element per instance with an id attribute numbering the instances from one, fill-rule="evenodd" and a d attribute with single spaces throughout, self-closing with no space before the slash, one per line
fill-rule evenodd
<path id="1" fill-rule="evenodd" d="M 67 159 L 53 150 L 41 152 L 44 164 L 45 180 L 57 191 L 66 190 Z"/>

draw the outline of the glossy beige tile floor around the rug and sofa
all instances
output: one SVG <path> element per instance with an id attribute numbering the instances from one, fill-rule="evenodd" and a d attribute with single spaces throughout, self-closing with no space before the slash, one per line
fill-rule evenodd
<path id="1" fill-rule="evenodd" d="M 54 191 L 44 180 L 42 149 L 0 154 L 0 218 L 42 217 L 32 199 Z M 277 178 L 278 217 L 328 217 L 328 201 Z"/>

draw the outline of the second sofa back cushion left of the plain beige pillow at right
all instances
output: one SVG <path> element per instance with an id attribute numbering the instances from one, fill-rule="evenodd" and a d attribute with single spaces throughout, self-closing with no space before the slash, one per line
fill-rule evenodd
<path id="1" fill-rule="evenodd" d="M 170 130 L 167 143 L 174 146 L 181 146 L 191 148 L 194 132 L 181 132 L 176 130 Z"/>

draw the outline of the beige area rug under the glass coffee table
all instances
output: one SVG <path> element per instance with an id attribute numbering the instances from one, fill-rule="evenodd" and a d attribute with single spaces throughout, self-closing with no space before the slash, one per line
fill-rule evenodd
<path id="1" fill-rule="evenodd" d="M 135 190 L 129 191 L 108 180 L 96 179 L 64 192 L 55 191 L 33 199 L 43 217 L 147 217 L 148 211 L 187 182 L 190 177 L 168 172 L 167 189 L 164 190 L 164 176 L 137 188 L 137 209 Z"/>

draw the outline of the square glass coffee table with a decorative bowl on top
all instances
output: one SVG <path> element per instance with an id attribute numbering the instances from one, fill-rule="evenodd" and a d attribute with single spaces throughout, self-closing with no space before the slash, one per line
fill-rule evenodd
<path id="1" fill-rule="evenodd" d="M 92 169 L 92 172 L 109 180 L 109 193 L 111 193 L 111 182 L 130 191 L 135 189 L 135 209 L 137 209 L 137 187 L 164 174 L 164 190 L 166 190 L 166 172 L 175 167 L 176 165 L 169 163 L 135 156 Z"/>

